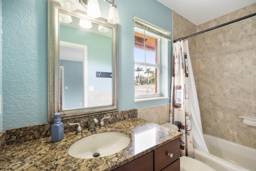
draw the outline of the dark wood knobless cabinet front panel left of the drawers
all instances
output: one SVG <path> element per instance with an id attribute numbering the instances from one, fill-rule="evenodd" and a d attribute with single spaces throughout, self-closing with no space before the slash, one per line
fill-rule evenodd
<path id="1" fill-rule="evenodd" d="M 153 171 L 153 151 L 130 161 L 113 171 Z"/>

